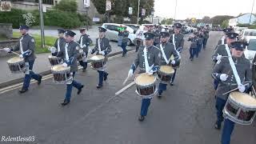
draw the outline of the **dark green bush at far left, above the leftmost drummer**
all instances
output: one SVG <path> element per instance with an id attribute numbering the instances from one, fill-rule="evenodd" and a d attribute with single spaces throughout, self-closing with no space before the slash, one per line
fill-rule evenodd
<path id="1" fill-rule="evenodd" d="M 11 9 L 11 11 L 0 12 L 0 23 L 12 23 L 13 28 L 17 29 L 20 25 L 25 24 L 22 14 L 26 14 L 26 11 Z"/>

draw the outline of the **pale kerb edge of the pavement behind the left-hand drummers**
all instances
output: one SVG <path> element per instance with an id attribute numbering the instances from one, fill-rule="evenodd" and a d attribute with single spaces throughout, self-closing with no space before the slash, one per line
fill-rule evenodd
<path id="1" fill-rule="evenodd" d="M 127 51 L 132 51 L 132 50 L 135 50 L 135 48 L 131 48 L 131 49 L 127 50 Z M 110 57 L 114 57 L 115 55 L 118 55 L 118 54 L 122 54 L 122 51 L 118 51 L 116 53 L 109 54 L 108 57 L 109 58 Z M 46 70 L 46 71 L 43 71 L 43 72 L 38 73 L 38 74 L 40 74 L 42 76 L 45 76 L 45 75 L 51 74 L 51 70 Z M 12 86 L 12 85 L 18 84 L 20 82 L 23 82 L 23 78 L 17 78 L 17 79 L 11 80 L 9 82 L 0 83 L 0 89 L 5 88 L 7 86 Z"/>

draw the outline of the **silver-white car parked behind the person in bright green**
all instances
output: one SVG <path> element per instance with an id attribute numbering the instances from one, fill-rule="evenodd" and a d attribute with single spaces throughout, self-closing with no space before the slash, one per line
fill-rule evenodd
<path id="1" fill-rule="evenodd" d="M 127 45 L 134 45 L 134 29 L 130 28 L 130 26 L 118 24 L 118 23 L 103 23 L 102 27 L 106 28 L 106 38 L 108 38 L 111 41 L 118 41 L 118 27 L 124 26 L 126 27 L 126 30 L 129 31 L 129 41 Z"/>

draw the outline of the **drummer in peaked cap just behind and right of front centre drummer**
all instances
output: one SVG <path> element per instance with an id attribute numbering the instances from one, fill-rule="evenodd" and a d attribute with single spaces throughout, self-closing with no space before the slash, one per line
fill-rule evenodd
<path id="1" fill-rule="evenodd" d="M 160 65 L 174 65 L 178 62 L 178 52 L 174 49 L 174 45 L 168 42 L 170 34 L 168 32 L 161 32 L 161 43 L 158 45 L 158 49 L 161 50 L 161 63 Z M 170 56 L 174 54 L 174 60 L 170 60 Z M 162 98 L 162 91 L 166 90 L 166 84 L 159 83 L 158 98 Z"/>

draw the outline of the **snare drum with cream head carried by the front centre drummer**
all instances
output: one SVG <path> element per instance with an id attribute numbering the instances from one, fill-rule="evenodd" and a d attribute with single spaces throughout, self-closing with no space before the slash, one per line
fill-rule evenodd
<path id="1" fill-rule="evenodd" d="M 134 79 L 136 83 L 136 93 L 141 98 L 152 98 L 157 92 L 156 90 L 156 78 L 149 74 L 140 74 Z"/>

